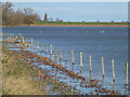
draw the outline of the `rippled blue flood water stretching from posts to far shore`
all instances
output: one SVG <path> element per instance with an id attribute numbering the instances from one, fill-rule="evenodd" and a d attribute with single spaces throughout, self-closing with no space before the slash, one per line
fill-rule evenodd
<path id="1" fill-rule="evenodd" d="M 79 55 L 82 52 L 83 68 L 81 74 L 86 78 L 89 78 L 89 55 L 91 55 L 91 79 L 102 79 L 101 57 L 103 56 L 105 61 L 104 86 L 118 89 L 121 94 L 127 94 L 125 91 L 125 65 L 128 61 L 127 27 L 4 27 L 2 32 L 21 33 L 29 39 L 32 37 L 35 42 L 43 44 L 43 48 L 46 48 L 44 44 L 48 43 L 53 45 L 53 50 L 55 47 L 62 50 L 63 64 L 69 70 L 72 69 L 70 51 L 74 50 L 75 72 L 80 71 Z M 64 61 L 65 52 L 68 54 L 67 63 Z M 115 86 L 112 86 L 112 59 L 115 59 Z"/>

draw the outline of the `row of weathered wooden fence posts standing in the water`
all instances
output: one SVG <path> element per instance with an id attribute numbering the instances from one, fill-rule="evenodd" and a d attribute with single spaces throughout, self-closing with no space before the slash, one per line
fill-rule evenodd
<path id="1" fill-rule="evenodd" d="M 44 43 L 44 45 L 42 44 L 42 46 L 40 48 L 40 46 L 39 46 L 40 44 L 34 42 L 32 38 L 28 39 L 28 38 L 25 38 L 24 36 L 14 36 L 14 34 L 4 34 L 4 36 L 8 36 L 8 39 L 14 39 L 14 42 L 26 43 L 26 47 L 28 47 L 28 46 L 30 46 L 30 47 L 35 46 L 34 48 L 37 50 L 37 52 L 43 52 L 43 53 L 46 53 L 46 57 L 47 57 L 48 54 L 50 54 L 50 59 L 52 59 L 52 55 L 54 55 L 54 60 L 58 61 L 60 65 L 63 65 L 63 59 L 65 61 L 68 60 L 68 57 L 67 57 L 68 52 L 65 52 L 63 54 L 62 50 L 57 51 L 57 48 L 53 47 L 52 44 L 50 44 L 50 46 L 49 46 L 48 43 Z M 44 46 L 44 50 L 43 50 L 43 46 Z M 49 47 L 50 47 L 50 52 L 49 52 Z M 75 61 L 75 51 L 72 50 L 70 54 L 72 54 L 72 70 L 74 70 L 74 66 L 75 66 L 75 63 L 76 63 Z M 80 72 L 81 72 L 82 71 L 82 67 L 83 67 L 83 52 L 80 52 L 79 55 L 80 55 L 79 56 L 79 60 L 80 60 Z M 58 57 L 58 59 L 57 59 L 57 57 Z M 105 68 L 104 68 L 105 64 L 104 64 L 104 61 L 105 61 L 105 58 L 102 56 L 101 57 L 101 63 L 102 63 L 101 64 L 102 81 L 104 81 L 104 78 L 105 78 Z M 126 78 L 125 79 L 125 86 L 126 87 L 128 87 L 128 84 L 129 84 L 128 83 L 128 70 L 129 70 L 128 66 L 129 66 L 128 63 L 126 63 L 126 71 L 125 71 L 125 78 Z M 115 79 L 116 78 L 116 71 L 115 71 L 116 67 L 115 67 L 115 60 L 114 59 L 112 59 L 112 67 L 113 67 L 112 68 L 112 71 L 113 71 L 112 84 L 114 84 L 115 81 L 116 81 L 116 79 Z M 89 78 L 90 79 L 91 79 L 91 73 L 92 73 L 92 56 L 89 55 Z"/>

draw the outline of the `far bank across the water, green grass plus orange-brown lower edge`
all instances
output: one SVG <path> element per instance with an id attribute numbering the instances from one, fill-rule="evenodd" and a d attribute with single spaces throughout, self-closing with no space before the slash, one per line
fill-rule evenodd
<path id="1" fill-rule="evenodd" d="M 128 23 L 106 22 L 36 22 L 32 26 L 68 26 L 68 27 L 127 27 Z"/>

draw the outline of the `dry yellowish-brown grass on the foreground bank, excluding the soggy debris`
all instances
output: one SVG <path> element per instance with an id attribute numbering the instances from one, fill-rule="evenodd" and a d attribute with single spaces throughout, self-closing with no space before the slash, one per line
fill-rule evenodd
<path id="1" fill-rule="evenodd" d="M 2 69 L 3 69 L 3 95 L 43 95 L 48 94 L 46 85 L 44 89 L 40 86 L 42 82 L 36 82 L 29 78 L 30 71 L 25 71 L 22 63 L 18 61 L 18 55 L 3 50 Z"/>

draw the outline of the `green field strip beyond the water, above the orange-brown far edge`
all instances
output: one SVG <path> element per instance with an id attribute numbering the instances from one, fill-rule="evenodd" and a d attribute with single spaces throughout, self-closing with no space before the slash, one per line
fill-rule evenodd
<path id="1" fill-rule="evenodd" d="M 128 23 L 96 23 L 96 22 L 36 22 L 36 25 L 128 25 Z"/>

